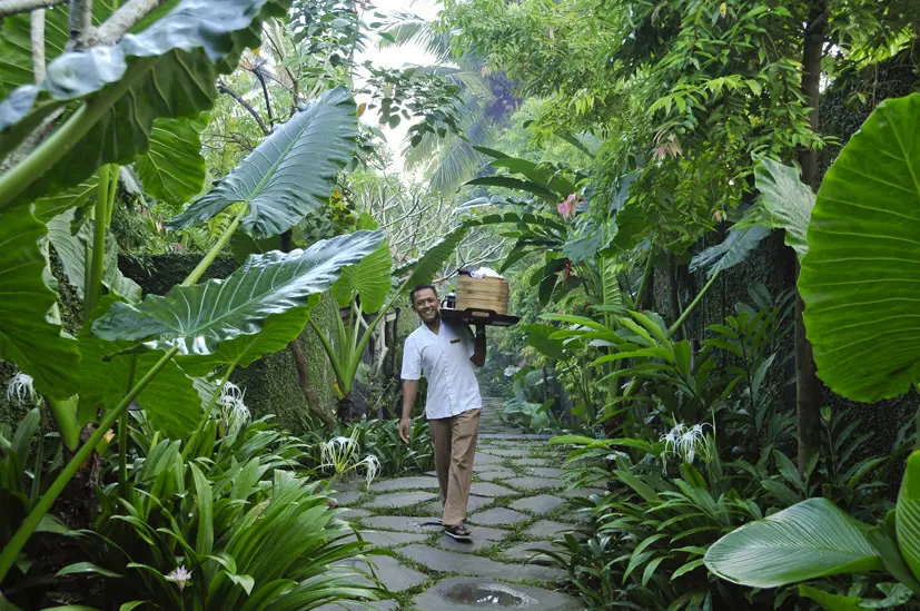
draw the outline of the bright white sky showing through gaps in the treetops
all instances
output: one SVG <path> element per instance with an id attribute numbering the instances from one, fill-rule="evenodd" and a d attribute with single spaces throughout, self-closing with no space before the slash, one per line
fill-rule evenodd
<path id="1" fill-rule="evenodd" d="M 376 0 L 374 6 L 377 12 L 386 16 L 395 14 L 398 11 L 407 11 L 425 19 L 434 19 L 439 10 L 439 3 L 432 0 Z M 372 21 L 379 21 L 379 18 L 374 17 L 374 10 L 367 10 L 364 14 L 364 20 L 370 23 Z M 366 49 L 357 55 L 359 65 L 366 60 L 370 60 L 375 66 L 382 68 L 403 68 L 408 65 L 426 66 L 435 62 L 434 56 L 417 45 L 379 49 L 377 47 L 378 40 L 376 35 L 372 35 Z M 357 101 L 360 104 L 367 100 L 358 97 Z M 377 122 L 377 114 L 367 112 L 362 120 L 368 125 L 374 125 Z M 406 132 L 409 127 L 410 124 L 408 121 L 400 122 L 395 129 L 380 127 L 393 154 L 394 167 L 398 170 L 404 169 L 403 158 L 399 151 L 403 148 L 403 141 L 406 138 Z"/>

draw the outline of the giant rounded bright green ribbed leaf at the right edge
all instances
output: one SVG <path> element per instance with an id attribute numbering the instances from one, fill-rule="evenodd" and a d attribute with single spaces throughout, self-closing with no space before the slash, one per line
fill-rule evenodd
<path id="1" fill-rule="evenodd" d="M 920 93 L 886 100 L 828 170 L 799 290 L 818 376 L 855 401 L 920 381 Z"/>

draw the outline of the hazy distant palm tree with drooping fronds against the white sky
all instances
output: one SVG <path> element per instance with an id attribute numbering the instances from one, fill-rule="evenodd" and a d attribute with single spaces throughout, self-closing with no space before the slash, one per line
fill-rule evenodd
<path id="1" fill-rule="evenodd" d="M 432 189 L 452 193 L 488 159 L 473 147 L 489 146 L 522 100 L 515 97 L 514 83 L 503 72 L 489 71 L 479 57 L 468 51 L 455 57 L 449 35 L 436 31 L 431 21 L 418 14 L 397 11 L 382 31 L 389 39 L 382 39 L 380 47 L 419 45 L 436 60 L 435 65 L 419 69 L 462 87 L 457 125 L 464 137 L 426 134 L 417 146 L 406 145 L 403 149 L 407 167 L 431 173 Z"/>

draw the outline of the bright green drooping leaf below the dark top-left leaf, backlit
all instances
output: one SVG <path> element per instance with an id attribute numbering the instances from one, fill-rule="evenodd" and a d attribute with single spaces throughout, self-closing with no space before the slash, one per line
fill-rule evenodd
<path id="1" fill-rule="evenodd" d="M 157 119 L 150 130 L 150 150 L 135 160 L 135 171 L 147 195 L 179 209 L 201 193 L 205 158 L 204 121 Z"/>

